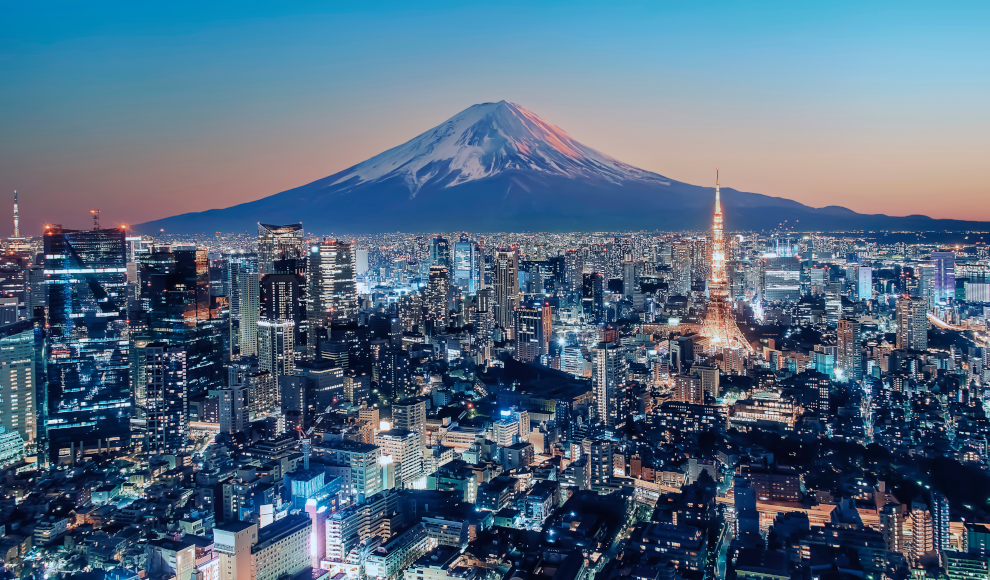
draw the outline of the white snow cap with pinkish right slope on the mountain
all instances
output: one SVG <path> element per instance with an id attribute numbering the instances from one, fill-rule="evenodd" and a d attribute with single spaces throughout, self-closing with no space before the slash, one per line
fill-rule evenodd
<path id="1" fill-rule="evenodd" d="M 453 187 L 518 169 L 569 178 L 669 185 L 575 141 L 539 115 L 506 101 L 474 105 L 444 123 L 346 169 L 329 187 L 401 178 L 412 196 L 427 184 Z"/>

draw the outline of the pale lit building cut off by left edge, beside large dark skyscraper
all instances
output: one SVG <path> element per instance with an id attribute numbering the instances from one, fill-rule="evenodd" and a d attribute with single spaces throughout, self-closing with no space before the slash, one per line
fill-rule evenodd
<path id="1" fill-rule="evenodd" d="M 41 330 L 30 320 L 0 326 L 0 427 L 20 435 L 31 450 L 39 427 L 44 430 L 39 420 L 45 395 L 41 340 Z"/>

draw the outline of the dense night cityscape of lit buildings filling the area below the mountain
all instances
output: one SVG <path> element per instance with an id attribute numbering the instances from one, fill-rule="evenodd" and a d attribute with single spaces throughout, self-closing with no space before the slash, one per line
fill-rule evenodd
<path id="1" fill-rule="evenodd" d="M 990 256 L 905 236 L 16 232 L 0 566 L 990 579 Z"/>

